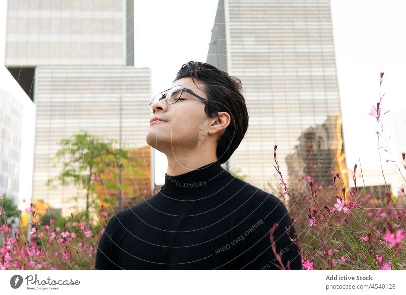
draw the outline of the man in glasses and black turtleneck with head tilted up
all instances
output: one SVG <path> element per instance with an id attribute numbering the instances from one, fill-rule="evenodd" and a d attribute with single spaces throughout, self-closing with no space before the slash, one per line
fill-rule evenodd
<path id="1" fill-rule="evenodd" d="M 109 220 L 95 268 L 301 269 L 283 203 L 220 165 L 248 128 L 241 81 L 190 61 L 150 110 L 147 143 L 167 156 L 165 183 Z"/>

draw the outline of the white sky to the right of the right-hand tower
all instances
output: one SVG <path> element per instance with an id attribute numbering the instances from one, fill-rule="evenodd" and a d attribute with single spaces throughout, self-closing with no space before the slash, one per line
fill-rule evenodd
<path id="1" fill-rule="evenodd" d="M 384 72 L 381 107 L 384 132 L 400 164 L 406 152 L 406 3 L 402 1 L 331 1 L 331 15 L 347 165 L 379 169 L 377 123 L 369 116 L 379 99 L 379 77 Z M 403 127 L 400 126 L 402 124 Z M 401 129 L 400 129 L 401 128 Z M 381 144 L 382 146 L 382 144 Z M 382 160 L 392 159 L 385 152 Z M 359 165 L 358 165 L 359 167 Z M 392 168 L 393 163 L 384 167 Z"/>

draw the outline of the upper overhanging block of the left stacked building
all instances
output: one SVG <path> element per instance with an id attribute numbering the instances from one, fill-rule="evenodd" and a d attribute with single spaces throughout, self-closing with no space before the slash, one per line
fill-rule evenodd
<path id="1" fill-rule="evenodd" d="M 9 0 L 5 64 L 126 65 L 127 17 L 125 0 Z"/>

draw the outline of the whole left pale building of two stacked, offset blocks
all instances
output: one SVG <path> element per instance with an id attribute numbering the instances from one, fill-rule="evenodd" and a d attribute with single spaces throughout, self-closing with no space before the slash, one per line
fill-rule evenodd
<path id="1" fill-rule="evenodd" d="M 151 73 L 133 66 L 133 10 L 132 0 L 8 2 L 5 65 L 37 106 L 32 197 L 62 215 L 85 206 L 72 201 L 77 187 L 46 185 L 60 172 L 49 159 L 62 138 L 86 131 L 147 145 Z"/>

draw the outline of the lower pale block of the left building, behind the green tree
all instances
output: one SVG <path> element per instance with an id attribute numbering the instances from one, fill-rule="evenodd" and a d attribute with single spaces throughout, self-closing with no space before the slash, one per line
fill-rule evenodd
<path id="1" fill-rule="evenodd" d="M 48 188 L 45 183 L 57 176 L 49 159 L 63 138 L 86 131 L 103 139 L 120 138 L 120 100 L 122 146 L 146 146 L 145 132 L 150 114 L 145 101 L 151 96 L 150 70 L 127 66 L 41 66 L 36 71 L 37 105 L 33 197 L 63 215 L 71 207 L 84 209 L 86 191 L 73 186 Z M 79 194 L 79 195 L 78 195 Z M 80 202 L 73 197 L 82 196 Z"/>

